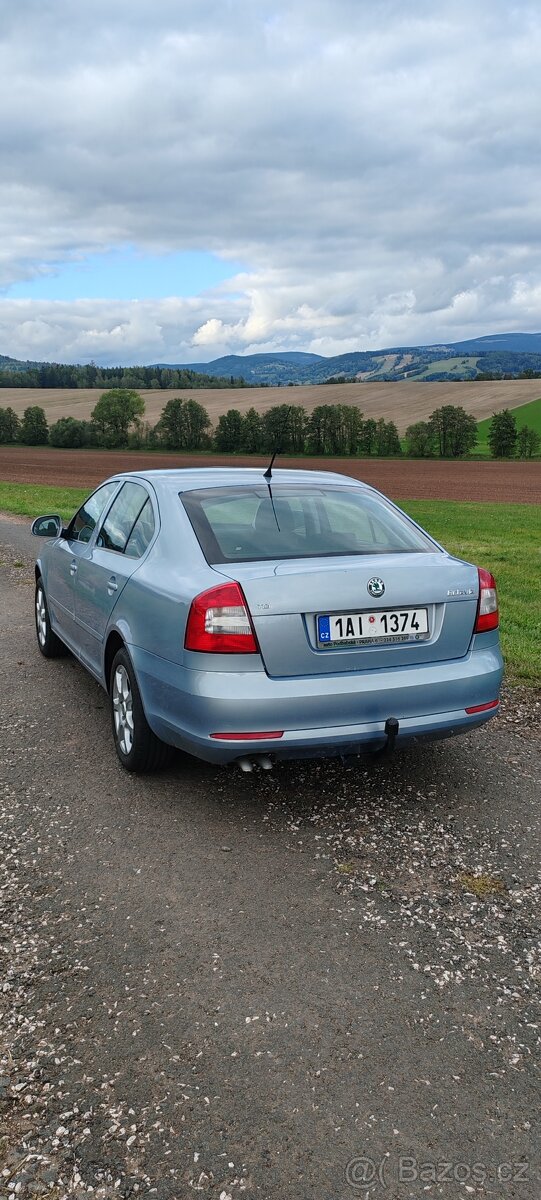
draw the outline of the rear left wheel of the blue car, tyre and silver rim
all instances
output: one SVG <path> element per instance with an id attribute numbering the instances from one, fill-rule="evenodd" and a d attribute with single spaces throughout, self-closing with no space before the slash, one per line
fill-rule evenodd
<path id="1" fill-rule="evenodd" d="M 122 767 L 136 773 L 160 770 L 172 757 L 173 748 L 150 728 L 126 649 L 118 650 L 113 659 L 109 697 L 113 740 Z"/>

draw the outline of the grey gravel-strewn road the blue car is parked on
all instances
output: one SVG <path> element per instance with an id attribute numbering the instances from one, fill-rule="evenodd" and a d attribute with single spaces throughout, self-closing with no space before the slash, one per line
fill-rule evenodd
<path id="1" fill-rule="evenodd" d="M 2 1200 L 539 1200 L 539 694 L 386 767 L 137 779 L 31 551 L 0 521 Z"/>

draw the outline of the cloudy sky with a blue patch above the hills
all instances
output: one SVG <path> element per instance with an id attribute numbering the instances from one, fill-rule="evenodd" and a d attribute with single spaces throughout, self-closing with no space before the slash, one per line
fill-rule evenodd
<path id="1" fill-rule="evenodd" d="M 17 0 L 0 38 L 0 353 L 541 329 L 539 2 Z"/>

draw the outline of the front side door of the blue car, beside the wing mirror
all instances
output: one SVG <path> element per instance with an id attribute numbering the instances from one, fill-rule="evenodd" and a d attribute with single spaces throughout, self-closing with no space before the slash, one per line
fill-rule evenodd
<path id="1" fill-rule="evenodd" d="M 79 563 L 88 552 L 96 524 L 119 487 L 120 480 L 116 479 L 96 488 L 78 509 L 66 532 L 55 541 L 52 553 L 48 556 L 44 583 L 52 623 L 62 641 L 68 642 L 76 653 L 78 646 L 74 580 Z"/>

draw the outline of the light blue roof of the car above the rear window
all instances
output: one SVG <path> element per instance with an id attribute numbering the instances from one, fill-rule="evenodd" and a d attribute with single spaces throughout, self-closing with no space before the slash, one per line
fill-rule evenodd
<path id="1" fill-rule="evenodd" d="M 187 468 L 162 468 L 157 470 L 122 470 L 113 479 L 144 479 L 157 487 L 164 486 L 168 490 L 179 492 L 192 491 L 198 487 L 228 487 L 234 485 L 251 486 L 253 484 L 266 484 L 263 467 L 187 467 Z M 350 475 L 341 475 L 335 470 L 272 470 L 272 484 L 342 484 L 353 487 L 361 487 L 365 491 L 373 491 L 368 484 Z"/>

